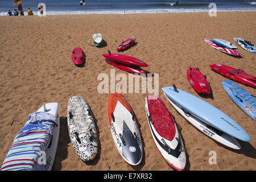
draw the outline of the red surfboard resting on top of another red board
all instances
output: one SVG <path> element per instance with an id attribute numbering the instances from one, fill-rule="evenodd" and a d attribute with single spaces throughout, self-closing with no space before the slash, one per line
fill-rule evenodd
<path id="1" fill-rule="evenodd" d="M 118 53 L 104 53 L 102 56 L 106 57 L 106 59 L 115 61 L 118 63 L 126 64 L 126 65 L 131 65 L 135 67 L 147 67 L 147 63 L 144 61 L 137 59 L 136 57 L 131 57 L 131 56 L 126 56 L 126 55 L 121 55 Z"/>

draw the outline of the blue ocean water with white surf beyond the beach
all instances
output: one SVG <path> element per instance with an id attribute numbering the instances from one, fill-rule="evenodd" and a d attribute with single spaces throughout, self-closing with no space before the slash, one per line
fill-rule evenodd
<path id="1" fill-rule="evenodd" d="M 0 0 L 0 15 L 6 15 L 9 9 L 17 9 L 13 2 Z M 177 6 L 172 6 L 175 1 L 157 0 L 86 0 L 85 6 L 80 5 L 80 0 L 22 0 L 25 15 L 28 7 L 37 14 L 39 3 L 46 4 L 47 15 L 207 12 L 209 3 L 216 3 L 217 11 L 256 11 L 256 1 L 245 0 L 180 0 Z"/>

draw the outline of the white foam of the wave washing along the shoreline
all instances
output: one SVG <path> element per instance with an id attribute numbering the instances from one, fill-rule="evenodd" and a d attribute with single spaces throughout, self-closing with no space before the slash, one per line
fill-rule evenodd
<path id="1" fill-rule="evenodd" d="M 255 2 L 256 3 L 256 2 Z M 168 9 L 147 9 L 147 10 L 88 10 L 88 11 L 47 11 L 46 15 L 82 15 L 82 14 L 154 14 L 154 13 L 200 13 L 208 12 L 209 9 L 182 9 L 182 8 L 168 8 Z M 217 12 L 224 11 L 256 11 L 255 8 L 230 8 L 217 9 Z M 34 11 L 34 15 L 38 12 Z M 0 16 L 6 16 L 7 12 L 1 12 Z M 27 15 L 27 12 L 24 12 Z"/>

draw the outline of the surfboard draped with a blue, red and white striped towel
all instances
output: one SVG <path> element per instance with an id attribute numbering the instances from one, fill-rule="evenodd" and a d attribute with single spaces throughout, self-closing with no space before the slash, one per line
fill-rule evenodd
<path id="1" fill-rule="evenodd" d="M 2 171 L 51 171 L 59 141 L 58 103 L 44 104 L 28 116 L 3 161 Z"/>

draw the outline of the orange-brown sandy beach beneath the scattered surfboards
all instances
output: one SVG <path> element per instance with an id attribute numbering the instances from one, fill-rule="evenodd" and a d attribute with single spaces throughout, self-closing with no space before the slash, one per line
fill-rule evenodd
<path id="1" fill-rule="evenodd" d="M 108 125 L 107 93 L 98 93 L 98 74 L 110 75 L 114 68 L 102 53 L 116 52 L 118 45 L 132 36 L 137 44 L 123 52 L 145 61 L 150 73 L 159 74 L 159 96 L 175 116 L 187 151 L 187 170 L 256 170 L 256 123 L 226 94 L 221 82 L 229 80 L 213 72 L 210 64 L 225 64 L 255 76 L 255 55 L 242 49 L 234 38 L 256 44 L 256 12 L 226 12 L 210 17 L 208 13 L 47 15 L 0 17 L 0 164 L 14 137 L 24 126 L 28 114 L 43 102 L 59 102 L 60 136 L 52 170 L 163 170 L 166 163 L 150 134 L 145 96 L 125 93 L 138 119 L 143 143 L 143 159 L 130 166 L 122 159 Z M 92 34 L 100 32 L 104 47 L 88 46 Z M 67 35 L 70 35 L 68 38 Z M 242 58 L 208 46 L 204 38 L 220 38 L 236 44 Z M 84 67 L 76 67 L 71 52 L 81 47 L 86 53 Z M 187 68 L 196 67 L 207 75 L 213 98 L 200 97 L 187 80 Z M 115 74 L 127 72 L 115 68 Z M 153 79 L 154 80 L 154 79 Z M 118 82 L 118 81 L 117 81 Z M 250 135 L 241 150 L 232 150 L 200 133 L 167 101 L 161 88 L 172 86 L 209 102 L 233 118 Z M 254 88 L 240 85 L 256 95 Z M 90 163 L 77 156 L 68 134 L 69 97 L 80 95 L 91 107 L 99 135 L 98 155 Z M 209 152 L 216 151 L 217 164 L 209 164 Z"/>

